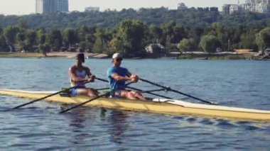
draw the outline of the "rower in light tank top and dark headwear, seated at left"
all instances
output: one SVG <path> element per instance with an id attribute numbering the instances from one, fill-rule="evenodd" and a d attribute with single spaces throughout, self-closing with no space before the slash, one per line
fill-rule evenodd
<path id="1" fill-rule="evenodd" d="M 76 86 L 71 89 L 72 96 L 85 95 L 96 97 L 98 95 L 95 89 L 87 88 L 84 82 L 94 82 L 95 75 L 90 72 L 88 67 L 82 66 L 85 62 L 85 55 L 83 53 L 78 53 L 76 55 L 76 63 L 70 67 L 68 74 L 70 75 L 71 86 Z"/>

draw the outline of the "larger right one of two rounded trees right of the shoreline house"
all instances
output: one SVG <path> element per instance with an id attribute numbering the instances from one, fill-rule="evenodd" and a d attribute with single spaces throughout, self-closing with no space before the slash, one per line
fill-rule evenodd
<path id="1" fill-rule="evenodd" d="M 204 52 L 215 52 L 220 47 L 220 41 L 215 35 L 204 35 L 200 40 L 200 47 Z"/>

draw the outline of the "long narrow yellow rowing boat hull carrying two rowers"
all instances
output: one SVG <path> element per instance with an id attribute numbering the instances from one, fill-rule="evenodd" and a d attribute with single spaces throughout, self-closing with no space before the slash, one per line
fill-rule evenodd
<path id="1" fill-rule="evenodd" d="M 23 91 L 13 89 L 0 89 L 0 94 L 18 96 L 23 98 L 38 99 L 55 91 Z M 46 101 L 65 104 L 80 104 L 89 100 L 87 96 L 60 96 L 60 94 L 46 98 Z M 228 106 L 214 106 L 207 104 L 194 104 L 173 99 L 153 99 L 151 101 L 139 101 L 129 99 L 99 98 L 85 106 L 97 106 L 104 108 L 117 108 L 128 111 L 147 111 L 153 113 L 173 115 L 210 116 L 217 118 L 235 118 L 252 121 L 270 121 L 270 111 L 249 108 L 234 108 Z"/>

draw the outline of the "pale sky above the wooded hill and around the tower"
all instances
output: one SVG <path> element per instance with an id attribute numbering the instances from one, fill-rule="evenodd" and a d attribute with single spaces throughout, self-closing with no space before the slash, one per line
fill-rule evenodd
<path id="1" fill-rule="evenodd" d="M 85 11 L 85 7 L 96 6 L 100 11 L 105 9 L 139 9 L 158 8 L 161 6 L 176 9 L 183 2 L 190 7 L 218 7 L 222 11 L 223 4 L 237 4 L 238 0 L 69 0 L 69 11 Z M 239 0 L 244 3 L 244 0 Z M 36 13 L 36 0 L 0 0 L 0 14 L 25 15 Z"/>

